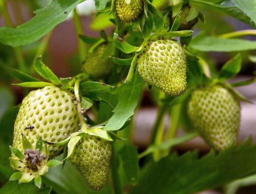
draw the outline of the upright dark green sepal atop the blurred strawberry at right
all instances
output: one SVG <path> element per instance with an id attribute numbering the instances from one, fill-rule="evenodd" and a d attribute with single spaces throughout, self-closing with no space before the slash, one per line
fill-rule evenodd
<path id="1" fill-rule="evenodd" d="M 241 70 L 242 57 L 240 54 L 230 59 L 221 68 L 219 74 L 220 81 L 227 81 L 235 77 Z"/>

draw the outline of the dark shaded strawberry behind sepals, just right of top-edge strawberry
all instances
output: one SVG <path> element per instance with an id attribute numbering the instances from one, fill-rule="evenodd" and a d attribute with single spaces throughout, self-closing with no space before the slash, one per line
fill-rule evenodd
<path id="1" fill-rule="evenodd" d="M 191 9 L 191 7 L 189 5 L 185 5 L 182 7 L 181 22 L 180 22 L 180 26 L 179 26 L 178 30 L 190 30 L 198 22 L 198 16 L 196 16 L 194 19 L 192 19 L 188 22 L 186 21 L 190 9 Z M 172 12 L 170 12 L 169 18 L 170 18 L 170 23 L 173 23 L 175 18 L 172 18 Z"/>

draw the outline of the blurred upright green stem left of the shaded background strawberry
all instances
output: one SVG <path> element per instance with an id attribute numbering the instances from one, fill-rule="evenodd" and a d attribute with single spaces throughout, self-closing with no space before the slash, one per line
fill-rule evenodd
<path id="1" fill-rule="evenodd" d="M 79 15 L 76 9 L 74 9 L 73 11 L 73 22 L 76 30 L 80 63 L 82 63 L 83 60 L 86 58 L 88 48 L 87 48 L 87 45 L 79 38 L 79 35 L 80 34 L 83 35 L 84 32 L 83 32 L 81 20 L 79 18 Z"/>

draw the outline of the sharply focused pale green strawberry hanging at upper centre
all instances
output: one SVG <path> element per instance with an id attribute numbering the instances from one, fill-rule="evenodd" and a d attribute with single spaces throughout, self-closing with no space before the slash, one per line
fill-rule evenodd
<path id="1" fill-rule="evenodd" d="M 187 61 L 178 42 L 169 39 L 148 41 L 137 64 L 140 76 L 148 85 L 170 95 L 185 92 Z"/>

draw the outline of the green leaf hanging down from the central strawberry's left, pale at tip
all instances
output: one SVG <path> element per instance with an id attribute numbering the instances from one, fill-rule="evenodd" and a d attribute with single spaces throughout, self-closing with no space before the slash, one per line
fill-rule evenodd
<path id="1" fill-rule="evenodd" d="M 125 124 L 126 120 L 134 114 L 134 109 L 137 106 L 143 85 L 142 79 L 136 73 L 131 82 L 125 83 L 119 88 L 118 104 L 113 110 L 114 114 L 109 119 L 104 130 L 119 130 Z"/>

